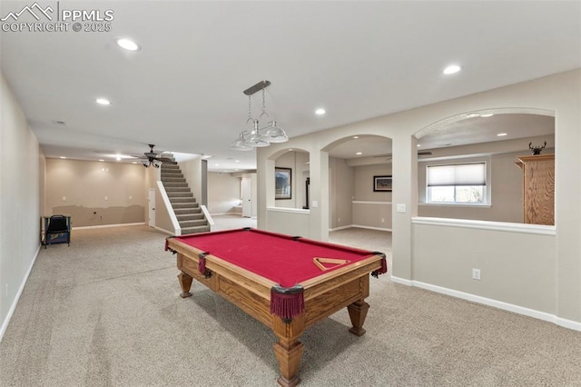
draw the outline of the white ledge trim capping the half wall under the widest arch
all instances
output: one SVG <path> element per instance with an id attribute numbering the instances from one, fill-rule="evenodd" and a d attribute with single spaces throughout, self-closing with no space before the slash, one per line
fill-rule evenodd
<path id="1" fill-rule="evenodd" d="M 545 224 L 487 222 L 468 219 L 428 218 L 428 217 L 413 217 L 411 218 L 411 223 L 444 227 L 473 228 L 478 230 L 501 231 L 509 233 L 531 233 L 537 235 L 551 235 L 551 236 L 556 235 L 555 226 Z"/>

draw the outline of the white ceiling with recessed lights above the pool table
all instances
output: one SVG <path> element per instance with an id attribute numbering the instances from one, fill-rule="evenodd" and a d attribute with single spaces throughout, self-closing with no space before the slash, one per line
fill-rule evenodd
<path id="1" fill-rule="evenodd" d="M 2 1 L 0 18 L 33 4 Z M 53 16 L 72 9 L 114 16 L 109 32 L 74 32 L 73 23 L 68 31 L 44 33 L 3 25 L 2 72 L 47 157 L 113 161 L 156 144 L 212 156 L 210 171 L 248 170 L 255 152 L 232 151 L 230 144 L 246 128 L 242 91 L 263 79 L 271 81 L 270 118 L 294 137 L 581 67 L 578 1 L 40 5 L 51 5 Z M 34 22 L 27 13 L 18 17 Z M 141 50 L 123 50 L 115 44 L 119 37 Z M 450 64 L 462 71 L 442 74 Z M 95 104 L 98 97 L 112 104 Z M 260 115 L 260 93 L 251 103 L 252 115 Z M 327 114 L 314 114 L 320 107 Z M 482 141 L 496 135 L 495 120 L 502 118 L 464 120 L 454 134 L 440 134 Z M 427 149 L 451 140 L 422 141 Z M 373 144 L 361 152 L 388 153 Z"/>

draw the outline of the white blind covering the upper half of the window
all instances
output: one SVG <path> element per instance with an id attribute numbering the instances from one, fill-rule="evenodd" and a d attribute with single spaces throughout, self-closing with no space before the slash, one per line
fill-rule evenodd
<path id="1" fill-rule="evenodd" d="M 428 165 L 426 168 L 428 187 L 444 185 L 486 185 L 487 164 Z"/>

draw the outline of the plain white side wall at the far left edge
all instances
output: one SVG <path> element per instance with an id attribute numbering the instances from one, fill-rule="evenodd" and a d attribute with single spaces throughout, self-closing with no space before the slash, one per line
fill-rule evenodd
<path id="1" fill-rule="evenodd" d="M 0 77 L 0 340 L 40 248 L 40 182 L 36 137 L 15 94 Z"/>

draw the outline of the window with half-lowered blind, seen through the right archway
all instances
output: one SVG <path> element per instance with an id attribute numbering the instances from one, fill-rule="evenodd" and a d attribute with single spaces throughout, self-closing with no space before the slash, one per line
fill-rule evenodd
<path id="1" fill-rule="evenodd" d="M 428 165 L 426 202 L 449 204 L 487 203 L 487 164 Z"/>

